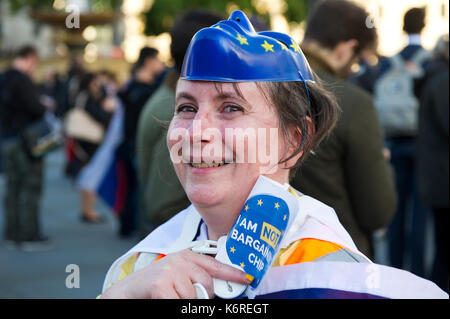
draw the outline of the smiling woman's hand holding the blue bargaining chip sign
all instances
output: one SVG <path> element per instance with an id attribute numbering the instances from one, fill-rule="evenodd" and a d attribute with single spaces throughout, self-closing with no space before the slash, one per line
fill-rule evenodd
<path id="1" fill-rule="evenodd" d="M 214 296 L 213 277 L 248 285 L 244 272 L 213 257 L 183 250 L 132 273 L 111 286 L 102 298 L 195 299 L 194 283 Z"/>

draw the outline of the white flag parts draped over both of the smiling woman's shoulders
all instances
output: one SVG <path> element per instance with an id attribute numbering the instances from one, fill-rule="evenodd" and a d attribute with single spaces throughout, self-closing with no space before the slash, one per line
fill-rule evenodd
<path id="1" fill-rule="evenodd" d="M 300 196 L 300 211 L 307 215 L 304 223 L 290 227 L 282 246 L 298 240 L 317 239 L 346 247 L 341 252 L 360 254 L 348 233 L 340 225 L 334 210 L 312 199 Z M 301 219 L 301 213 L 298 219 Z M 297 218 L 296 218 L 297 221 Z M 139 263 L 140 254 L 149 263 L 186 247 L 196 239 L 201 216 L 193 205 L 158 227 L 144 240 L 117 259 L 110 267 L 103 292 L 123 279 Z M 361 254 L 362 255 L 362 254 Z M 342 254 L 331 253 L 313 261 L 296 264 L 273 265 L 258 288 L 248 298 L 302 298 L 302 299 L 436 299 L 448 298 L 448 294 L 429 280 L 408 271 L 370 262 L 362 255 L 361 261 L 349 262 Z M 354 254 L 355 256 L 355 254 Z M 331 258 L 330 258 L 331 257 Z M 142 266 L 142 265 L 140 265 Z"/>

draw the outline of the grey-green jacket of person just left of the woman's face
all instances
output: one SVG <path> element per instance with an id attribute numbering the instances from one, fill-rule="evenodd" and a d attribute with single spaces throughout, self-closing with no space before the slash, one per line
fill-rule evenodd
<path id="1" fill-rule="evenodd" d="M 137 132 L 140 183 L 139 227 L 148 234 L 190 202 L 175 173 L 167 148 L 167 123 L 173 117 L 178 73 L 171 70 L 142 110 Z"/>

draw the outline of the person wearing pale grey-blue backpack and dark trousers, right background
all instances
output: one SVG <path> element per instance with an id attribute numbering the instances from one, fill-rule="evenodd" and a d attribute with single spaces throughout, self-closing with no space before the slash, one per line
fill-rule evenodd
<path id="1" fill-rule="evenodd" d="M 416 183 L 416 138 L 419 96 L 429 53 L 423 48 L 425 8 L 412 8 L 403 17 L 408 44 L 380 61 L 374 100 L 395 171 L 398 207 L 388 228 L 389 259 L 393 267 L 425 276 L 427 210 Z M 408 227 L 410 223 L 410 227 Z M 409 260 L 407 262 L 407 260 Z M 410 266 L 407 266 L 410 265 Z"/>

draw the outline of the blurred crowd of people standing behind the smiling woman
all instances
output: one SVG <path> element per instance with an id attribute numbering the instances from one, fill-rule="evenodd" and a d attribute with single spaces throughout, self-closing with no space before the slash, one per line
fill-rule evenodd
<path id="1" fill-rule="evenodd" d="M 425 50 L 426 11 L 412 8 L 403 19 L 408 44 L 392 57 L 380 56 L 376 29 L 366 25 L 367 17 L 343 0 L 311 9 L 301 48 L 336 95 L 341 114 L 291 184 L 334 207 L 367 256 L 375 256 L 374 234 L 382 233 L 390 265 L 430 278 L 448 292 L 448 34 Z M 110 71 L 89 71 L 74 58 L 67 74 L 48 72 L 37 85 L 31 75 L 38 52 L 31 46 L 18 50 L 11 66 L 0 70 L 8 247 L 33 251 L 51 243 L 39 226 L 39 202 L 44 157 L 57 147 L 65 149 L 65 176 L 79 185 L 82 222 L 105 221 L 95 210 L 98 197 L 108 199 L 105 189 L 114 195 L 109 199 L 121 237 L 142 238 L 189 205 L 171 165 L 166 124 L 192 36 L 223 19 L 200 9 L 180 14 L 170 30 L 174 65 L 161 62 L 155 48 L 144 47 L 126 83 Z M 256 31 L 269 29 L 258 17 L 252 19 Z M 102 163 L 100 153 L 114 157 L 113 169 L 99 177 L 98 187 L 83 187 L 80 179 L 94 178 L 83 170 Z M 432 269 L 425 263 L 429 221 L 435 236 Z"/>

